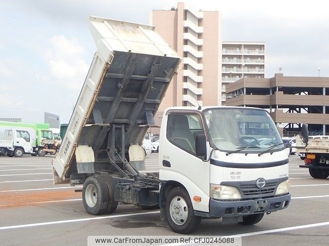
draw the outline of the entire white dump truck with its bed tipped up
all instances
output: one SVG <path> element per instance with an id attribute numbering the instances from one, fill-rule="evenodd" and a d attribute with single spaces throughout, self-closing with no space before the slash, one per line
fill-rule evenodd
<path id="1" fill-rule="evenodd" d="M 97 17 L 89 24 L 98 51 L 52 161 L 55 183 L 83 185 L 87 213 L 113 213 L 118 203 L 159 208 L 186 234 L 202 218 L 254 224 L 288 207 L 289 149 L 262 109 L 168 108 L 159 173 L 138 171 L 180 58 L 153 27 Z"/>

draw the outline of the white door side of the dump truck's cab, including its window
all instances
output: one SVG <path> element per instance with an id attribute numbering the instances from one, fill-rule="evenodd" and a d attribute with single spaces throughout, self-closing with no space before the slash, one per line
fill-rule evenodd
<path id="1" fill-rule="evenodd" d="M 196 156 L 195 138 L 205 134 L 202 115 L 198 111 L 167 114 L 161 127 L 160 179 L 175 180 L 188 191 L 195 210 L 209 212 L 210 164 Z M 201 197 L 194 201 L 193 197 Z"/>

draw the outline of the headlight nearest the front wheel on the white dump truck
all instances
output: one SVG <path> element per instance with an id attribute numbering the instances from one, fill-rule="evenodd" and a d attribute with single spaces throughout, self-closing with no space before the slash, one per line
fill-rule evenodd
<path id="1" fill-rule="evenodd" d="M 240 191 L 233 186 L 220 186 L 210 184 L 210 197 L 221 200 L 239 200 L 242 199 Z"/>

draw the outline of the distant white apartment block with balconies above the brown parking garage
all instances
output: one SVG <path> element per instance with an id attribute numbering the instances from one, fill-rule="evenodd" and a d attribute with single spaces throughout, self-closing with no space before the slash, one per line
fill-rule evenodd
<path id="1" fill-rule="evenodd" d="M 265 77 L 265 43 L 223 41 L 222 94 L 219 105 L 226 105 L 226 87 L 243 77 Z"/>

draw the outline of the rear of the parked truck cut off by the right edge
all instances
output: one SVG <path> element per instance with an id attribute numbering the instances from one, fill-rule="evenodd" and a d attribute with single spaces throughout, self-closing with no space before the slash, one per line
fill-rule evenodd
<path id="1" fill-rule="evenodd" d="M 296 140 L 296 151 L 305 154 L 305 165 L 313 178 L 327 178 L 329 176 L 329 136 L 308 137 L 307 125 L 302 125 L 301 135 Z"/>

